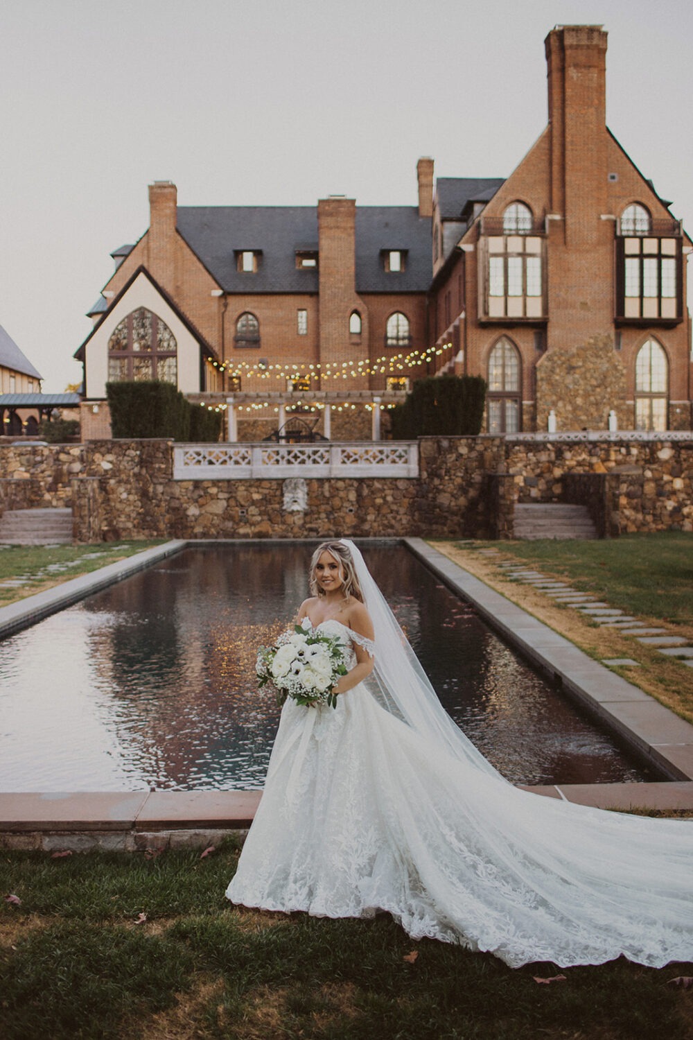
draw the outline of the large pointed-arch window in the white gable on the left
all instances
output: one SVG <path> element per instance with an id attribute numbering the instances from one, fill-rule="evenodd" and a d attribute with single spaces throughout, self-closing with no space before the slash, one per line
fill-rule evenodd
<path id="1" fill-rule="evenodd" d="M 108 340 L 108 380 L 178 382 L 176 337 L 165 321 L 138 307 L 115 327 Z"/>

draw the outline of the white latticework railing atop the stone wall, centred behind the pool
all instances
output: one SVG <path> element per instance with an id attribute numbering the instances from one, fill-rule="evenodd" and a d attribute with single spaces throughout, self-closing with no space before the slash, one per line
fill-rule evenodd
<path id="1" fill-rule="evenodd" d="M 318 444 L 177 444 L 175 480 L 272 479 L 289 476 L 419 476 L 408 441 Z"/>

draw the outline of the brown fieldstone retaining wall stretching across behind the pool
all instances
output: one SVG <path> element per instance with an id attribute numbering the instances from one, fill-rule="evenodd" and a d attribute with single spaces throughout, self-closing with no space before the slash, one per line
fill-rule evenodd
<path id="1" fill-rule="evenodd" d="M 306 510 L 291 512 L 282 479 L 174 480 L 169 441 L 0 446 L 0 512 L 72 504 L 83 542 L 509 538 L 514 501 L 560 500 L 588 504 L 607 535 L 693 530 L 693 437 L 425 437 L 419 448 L 418 478 L 306 478 Z"/>

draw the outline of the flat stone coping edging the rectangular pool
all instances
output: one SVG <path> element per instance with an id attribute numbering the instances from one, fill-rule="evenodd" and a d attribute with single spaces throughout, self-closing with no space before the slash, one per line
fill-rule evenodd
<path id="1" fill-rule="evenodd" d="M 560 679 L 570 695 L 672 777 L 672 781 L 661 783 L 556 784 L 525 789 L 601 808 L 693 810 L 693 726 L 592 660 L 423 539 L 392 541 L 407 545 L 446 584 L 472 602 L 511 645 L 539 669 Z M 181 549 L 205 543 L 166 542 L 1 607 L 0 638 Z M 260 798 L 261 791 L 236 790 L 0 792 L 0 848 L 156 851 L 211 844 L 222 834 L 247 830 Z"/>

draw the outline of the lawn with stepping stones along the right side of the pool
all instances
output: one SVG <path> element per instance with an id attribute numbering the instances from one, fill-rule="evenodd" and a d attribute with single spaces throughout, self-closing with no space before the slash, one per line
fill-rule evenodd
<path id="1" fill-rule="evenodd" d="M 501 561 L 526 563 L 547 577 L 560 578 L 638 621 L 666 628 L 693 643 L 693 535 L 663 531 L 593 542 L 541 539 L 431 544 L 591 657 L 636 660 L 638 668 L 613 666 L 613 671 L 693 723 L 693 671 L 683 661 L 614 628 L 605 628 L 575 607 L 556 603 L 547 593 L 513 579 L 499 567 Z M 479 549 L 488 548 L 497 549 L 498 555 L 479 553 Z"/>

